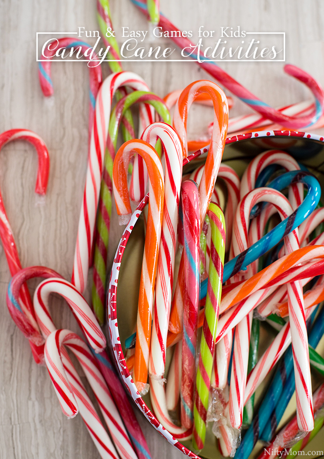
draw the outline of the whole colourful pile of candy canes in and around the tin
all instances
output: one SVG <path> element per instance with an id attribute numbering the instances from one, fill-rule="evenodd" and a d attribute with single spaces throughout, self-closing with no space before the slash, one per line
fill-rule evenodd
<path id="1" fill-rule="evenodd" d="M 160 16 L 158 1 L 134 3 L 163 30 L 177 30 Z M 313 394 L 311 380 L 311 367 L 324 375 L 324 359 L 315 350 L 324 334 L 321 187 L 305 166 L 283 151 L 259 154 L 242 177 L 221 160 L 227 134 L 322 127 L 323 89 L 306 72 L 286 66 L 287 73 L 310 88 L 315 102 L 275 110 L 218 66 L 202 62 L 211 77 L 258 113 L 228 119 L 232 99 L 209 80 L 162 99 L 139 75 L 123 71 L 117 42 L 105 34 L 112 25 L 109 4 L 98 0 L 97 6 L 103 39 L 111 46 L 113 60 L 108 63 L 113 73 L 102 81 L 101 67 L 89 67 L 88 168 L 71 282 L 45 267 L 22 269 L 0 196 L 0 238 L 12 275 L 7 291 L 10 315 L 29 340 L 35 362 L 46 364 L 63 413 L 74 417 L 80 412 L 100 456 L 149 459 L 101 329 L 106 303 L 110 322 L 114 316 L 118 325 L 119 268 L 147 206 L 137 323 L 125 343 L 124 372 L 136 385 L 136 394 L 149 393 L 156 427 L 161 423 L 178 445 L 192 439 L 192 449 L 199 451 L 209 422 L 225 457 L 247 459 L 258 440 L 273 447 L 260 458 L 300 451 L 324 424 L 324 383 Z M 181 47 L 190 45 L 187 38 L 172 39 Z M 72 38 L 60 38 L 58 44 L 83 51 L 90 47 Z M 46 97 L 53 94 L 53 55 L 48 51 L 48 60 L 39 63 Z M 188 141 L 193 102 L 213 107 L 214 120 L 202 138 Z M 134 104 L 139 105 L 138 134 Z M 119 127 L 125 143 L 117 151 Z M 0 135 L 0 148 L 17 139 L 35 147 L 35 192 L 45 194 L 49 155 L 44 142 L 31 131 L 14 129 Z M 127 226 L 108 271 L 113 202 L 120 223 Z M 90 307 L 82 293 L 92 262 Z M 31 300 L 25 282 L 36 277 L 45 280 Z M 48 309 L 51 293 L 66 300 L 83 337 L 56 329 Z M 276 336 L 259 355 L 263 324 Z M 79 361 L 106 426 L 67 351 Z M 171 362 L 166 374 L 167 352 Z M 254 407 L 254 393 L 272 369 L 265 395 Z M 296 416 L 277 432 L 295 390 Z"/>

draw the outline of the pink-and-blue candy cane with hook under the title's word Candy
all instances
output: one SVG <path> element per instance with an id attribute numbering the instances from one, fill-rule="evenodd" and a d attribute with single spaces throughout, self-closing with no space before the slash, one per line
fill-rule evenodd
<path id="1" fill-rule="evenodd" d="M 54 46 L 56 44 L 56 46 Z M 91 49 L 91 46 L 88 43 L 85 43 L 81 40 L 75 40 L 74 38 L 64 37 L 58 38 L 51 41 L 44 50 L 44 56 L 47 61 L 40 61 L 38 62 L 38 78 L 41 90 L 45 97 L 52 96 L 54 93 L 53 83 L 51 79 L 51 59 L 55 56 L 55 53 L 58 48 L 66 48 L 66 49 L 77 49 L 84 51 L 88 51 Z M 92 59 L 95 59 L 97 56 L 96 54 L 93 55 Z M 86 58 L 90 61 L 90 57 L 86 56 Z M 91 130 L 93 126 L 93 120 L 95 116 L 95 104 L 96 104 L 96 97 L 102 83 L 102 74 L 101 74 L 101 66 L 89 66 L 89 76 L 90 76 L 90 103 L 89 103 L 89 142 L 91 136 Z"/>

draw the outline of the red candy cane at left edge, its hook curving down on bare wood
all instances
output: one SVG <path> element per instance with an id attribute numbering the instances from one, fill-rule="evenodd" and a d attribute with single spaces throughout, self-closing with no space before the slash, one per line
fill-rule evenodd
<path id="1" fill-rule="evenodd" d="M 24 140 L 33 145 L 38 155 L 38 171 L 35 192 L 44 195 L 46 193 L 48 173 L 49 173 L 49 155 L 44 141 L 34 132 L 25 129 L 11 129 L 0 134 L 0 149 L 14 140 Z M 12 230 L 5 212 L 3 199 L 0 194 L 0 238 L 7 259 L 11 276 L 21 270 L 21 264 L 18 256 L 16 244 L 14 242 Z M 10 310 L 14 321 L 20 323 L 20 329 L 28 337 L 29 344 L 37 363 L 43 360 L 43 339 L 40 335 L 39 328 L 33 313 L 31 298 L 24 285 L 20 291 L 19 297 L 20 308 Z"/>

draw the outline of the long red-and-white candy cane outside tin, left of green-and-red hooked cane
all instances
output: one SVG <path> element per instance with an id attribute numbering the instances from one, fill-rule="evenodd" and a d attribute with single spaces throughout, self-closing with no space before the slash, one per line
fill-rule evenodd
<path id="1" fill-rule="evenodd" d="M 86 183 L 79 217 L 71 281 L 80 292 L 85 289 L 89 271 L 111 104 L 116 90 L 121 86 L 130 86 L 139 91 L 148 90 L 145 81 L 132 72 L 110 75 L 99 89 L 91 131 Z"/>

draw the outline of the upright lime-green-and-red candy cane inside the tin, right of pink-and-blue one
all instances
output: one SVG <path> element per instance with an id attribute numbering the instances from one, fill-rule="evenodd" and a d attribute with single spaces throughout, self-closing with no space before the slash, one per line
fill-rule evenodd
<path id="1" fill-rule="evenodd" d="M 209 277 L 193 407 L 193 447 L 197 450 L 202 449 L 206 435 L 210 377 L 213 368 L 225 256 L 225 218 L 221 208 L 217 204 L 209 204 L 208 217 L 211 225 Z"/>

